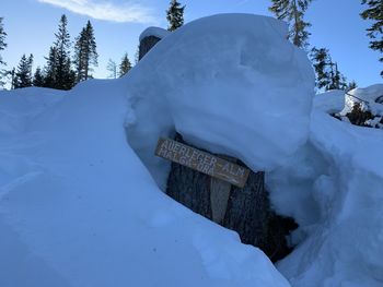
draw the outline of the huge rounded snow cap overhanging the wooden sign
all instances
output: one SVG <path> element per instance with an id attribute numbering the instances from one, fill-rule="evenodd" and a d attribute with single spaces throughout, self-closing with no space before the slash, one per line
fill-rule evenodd
<path id="1" fill-rule="evenodd" d="M 159 136 L 241 158 L 254 170 L 281 165 L 309 135 L 314 73 L 285 23 L 251 14 L 192 22 L 161 40 L 125 77 L 129 141 L 154 178 Z"/>

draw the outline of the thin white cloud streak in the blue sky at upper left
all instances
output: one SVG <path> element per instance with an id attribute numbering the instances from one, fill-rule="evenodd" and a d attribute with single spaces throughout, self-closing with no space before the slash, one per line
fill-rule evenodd
<path id="1" fill-rule="evenodd" d="M 138 3 L 114 4 L 111 1 L 98 0 L 37 0 L 67 9 L 73 13 L 97 20 L 131 23 L 153 23 L 151 10 Z"/>

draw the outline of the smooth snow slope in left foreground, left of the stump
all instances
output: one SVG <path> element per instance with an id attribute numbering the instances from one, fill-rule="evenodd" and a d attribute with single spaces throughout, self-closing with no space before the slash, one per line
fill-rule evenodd
<path id="1" fill-rule="evenodd" d="M 159 190 L 126 141 L 125 81 L 0 103 L 12 125 L 0 129 L 1 287 L 289 286 L 262 251 Z"/>

